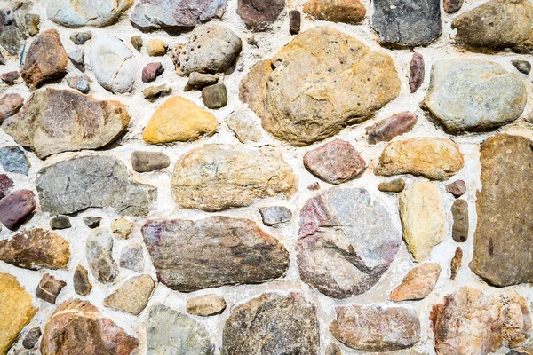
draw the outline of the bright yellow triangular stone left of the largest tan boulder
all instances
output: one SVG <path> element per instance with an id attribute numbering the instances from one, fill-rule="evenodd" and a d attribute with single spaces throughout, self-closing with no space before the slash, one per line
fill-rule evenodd
<path id="1" fill-rule="evenodd" d="M 188 99 L 173 96 L 157 108 L 142 138 L 149 144 L 187 142 L 212 136 L 217 126 L 215 116 Z"/>

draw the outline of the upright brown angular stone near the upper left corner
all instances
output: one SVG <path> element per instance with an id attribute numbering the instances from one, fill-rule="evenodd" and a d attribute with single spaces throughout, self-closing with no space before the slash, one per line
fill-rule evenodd
<path id="1" fill-rule="evenodd" d="M 39 87 L 67 74 L 68 57 L 56 29 L 47 29 L 31 43 L 20 75 L 28 86 Z"/>

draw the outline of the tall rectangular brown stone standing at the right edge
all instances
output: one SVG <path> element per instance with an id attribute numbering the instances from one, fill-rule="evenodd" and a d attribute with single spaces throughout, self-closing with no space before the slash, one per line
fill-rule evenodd
<path id="1" fill-rule="evenodd" d="M 481 144 L 481 191 L 470 268 L 489 283 L 533 281 L 533 142 L 500 134 Z M 517 188 L 520 186 L 520 188 Z M 517 213 L 520 211 L 520 213 Z"/>

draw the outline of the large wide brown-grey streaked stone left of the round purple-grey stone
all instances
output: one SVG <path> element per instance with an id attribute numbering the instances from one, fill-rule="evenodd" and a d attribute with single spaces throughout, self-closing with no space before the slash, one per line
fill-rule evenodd
<path id="1" fill-rule="evenodd" d="M 148 221 L 141 228 L 158 279 L 192 292 L 283 277 L 289 252 L 247 219 Z"/>

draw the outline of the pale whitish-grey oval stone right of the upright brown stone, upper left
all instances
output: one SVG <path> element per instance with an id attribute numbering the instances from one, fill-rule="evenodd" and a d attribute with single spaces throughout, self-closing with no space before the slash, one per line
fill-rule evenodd
<path id="1" fill-rule="evenodd" d="M 137 59 L 115 36 L 101 36 L 91 45 L 91 67 L 98 83 L 115 94 L 131 92 L 139 72 Z"/>

